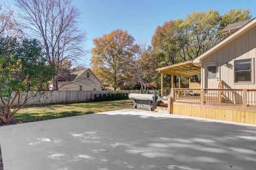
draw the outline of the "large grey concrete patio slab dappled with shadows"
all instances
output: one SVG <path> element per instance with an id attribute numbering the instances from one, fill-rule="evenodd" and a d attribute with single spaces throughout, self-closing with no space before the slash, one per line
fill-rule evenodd
<path id="1" fill-rule="evenodd" d="M 0 127 L 4 170 L 255 169 L 256 126 L 116 110 Z"/>

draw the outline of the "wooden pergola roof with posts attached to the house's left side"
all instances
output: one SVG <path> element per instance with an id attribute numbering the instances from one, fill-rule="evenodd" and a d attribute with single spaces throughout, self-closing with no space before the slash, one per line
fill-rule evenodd
<path id="1" fill-rule="evenodd" d="M 179 77 L 178 87 L 180 88 L 180 77 L 186 77 L 189 79 L 194 75 L 201 74 L 201 67 L 192 63 L 192 60 L 180 62 L 178 64 L 172 64 L 166 67 L 157 68 L 156 71 L 161 73 L 161 96 L 163 96 L 163 90 L 170 90 L 170 88 L 164 88 L 163 82 L 163 74 L 172 75 L 172 88 L 173 88 L 173 76 Z"/>

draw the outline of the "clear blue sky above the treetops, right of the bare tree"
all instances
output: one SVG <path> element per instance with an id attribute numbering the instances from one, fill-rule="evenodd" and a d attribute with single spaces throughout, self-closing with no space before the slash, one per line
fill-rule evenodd
<path id="1" fill-rule="evenodd" d="M 94 47 L 92 38 L 116 29 L 127 30 L 137 42 L 142 40 L 151 45 L 158 25 L 209 8 L 220 14 L 231 8 L 250 8 L 252 17 L 256 17 L 255 0 L 73 0 L 73 5 L 82 12 L 81 26 L 88 33 L 88 49 Z M 90 58 L 91 54 L 84 58 L 87 66 Z"/>

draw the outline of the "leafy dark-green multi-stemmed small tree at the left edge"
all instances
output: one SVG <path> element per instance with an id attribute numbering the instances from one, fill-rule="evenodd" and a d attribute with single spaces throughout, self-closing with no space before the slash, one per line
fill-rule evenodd
<path id="1" fill-rule="evenodd" d="M 3 41 L 3 39 L 5 41 Z M 0 120 L 8 123 L 53 76 L 37 40 L 0 38 Z"/>

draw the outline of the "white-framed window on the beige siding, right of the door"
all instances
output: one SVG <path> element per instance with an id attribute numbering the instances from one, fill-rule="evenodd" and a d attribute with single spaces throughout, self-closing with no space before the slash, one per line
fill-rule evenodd
<path id="1" fill-rule="evenodd" d="M 252 59 L 234 61 L 234 82 L 251 83 L 252 82 Z"/>

